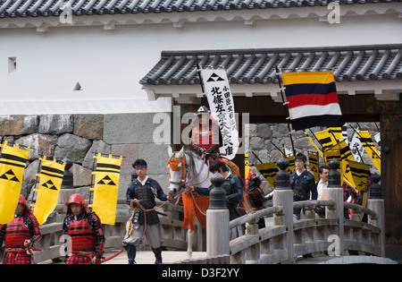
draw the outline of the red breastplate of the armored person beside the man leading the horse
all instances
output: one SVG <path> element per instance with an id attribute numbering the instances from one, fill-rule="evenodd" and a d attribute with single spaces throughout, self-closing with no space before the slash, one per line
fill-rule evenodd
<path id="1" fill-rule="evenodd" d="M 88 218 L 71 220 L 69 230 L 69 250 L 71 252 L 95 251 L 96 235 L 89 225 Z"/>

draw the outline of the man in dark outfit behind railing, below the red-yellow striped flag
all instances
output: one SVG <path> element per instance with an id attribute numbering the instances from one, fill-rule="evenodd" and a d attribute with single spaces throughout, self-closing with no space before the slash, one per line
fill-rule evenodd
<path id="1" fill-rule="evenodd" d="M 306 156 L 297 153 L 295 157 L 295 172 L 290 175 L 290 187 L 293 190 L 293 201 L 317 200 L 317 188 L 314 175 L 306 169 Z M 300 219 L 301 209 L 293 210 L 293 218 Z"/>

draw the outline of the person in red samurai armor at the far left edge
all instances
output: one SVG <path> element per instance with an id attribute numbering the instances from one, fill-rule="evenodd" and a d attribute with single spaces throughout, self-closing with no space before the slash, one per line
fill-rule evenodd
<path id="1" fill-rule="evenodd" d="M 14 219 L 0 229 L 0 248 L 5 245 L 3 264 L 31 264 L 29 250 L 41 238 L 38 220 L 20 195 Z"/>

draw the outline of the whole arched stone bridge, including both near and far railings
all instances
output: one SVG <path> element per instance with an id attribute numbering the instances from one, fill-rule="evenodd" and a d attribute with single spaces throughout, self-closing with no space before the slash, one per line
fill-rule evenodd
<path id="1" fill-rule="evenodd" d="M 384 258 L 384 203 L 380 199 L 380 178 L 374 177 L 372 197 L 364 208 L 343 201 L 337 164 L 330 166 L 332 170 L 325 201 L 293 202 L 289 174 L 285 170 L 287 165 L 281 164 L 280 160 L 273 206 L 230 222 L 221 220 L 222 215 L 228 212 L 225 202 L 213 201 L 214 197 L 219 200 L 219 192 L 222 192 L 218 185 L 211 193 L 206 232 L 197 225 L 193 245 L 194 251 L 204 251 L 206 233 L 205 258 L 178 263 L 394 263 Z M 316 216 L 314 210 L 318 206 L 325 208 L 324 217 Z M 59 208 L 63 209 L 63 205 Z M 305 218 L 294 220 L 293 209 L 300 208 L 305 210 Z M 344 209 L 352 209 L 353 218 L 344 218 Z M 178 216 L 180 207 L 170 205 L 162 211 L 167 214 L 167 217 L 161 218 L 165 236 L 163 246 L 168 250 L 186 250 L 186 232 Z M 367 222 L 361 220 L 363 213 L 368 216 Z M 272 217 L 273 224 L 259 229 L 256 223 L 262 217 Z M 114 226 L 104 226 L 106 251 L 122 248 L 121 239 L 128 218 L 128 215 L 118 215 Z M 246 234 L 230 241 L 229 230 L 236 226 L 246 226 Z M 35 261 L 60 260 L 63 257 L 63 224 L 46 224 L 40 229 L 43 238 L 36 248 L 43 251 L 35 252 Z M 0 252 L 1 260 L 2 257 L 3 251 Z"/>

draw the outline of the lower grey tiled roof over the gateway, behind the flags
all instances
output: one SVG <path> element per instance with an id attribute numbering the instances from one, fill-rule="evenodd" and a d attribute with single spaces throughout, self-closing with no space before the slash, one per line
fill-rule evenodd
<path id="1" fill-rule="evenodd" d="M 230 83 L 277 82 L 282 72 L 333 70 L 336 81 L 402 79 L 402 45 L 297 49 L 164 51 L 143 85 L 199 84 L 197 64 L 224 67 Z"/>

